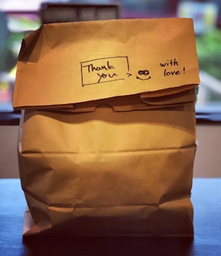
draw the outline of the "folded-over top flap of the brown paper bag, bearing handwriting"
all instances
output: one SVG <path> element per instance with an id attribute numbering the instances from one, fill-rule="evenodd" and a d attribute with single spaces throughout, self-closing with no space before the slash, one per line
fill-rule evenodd
<path id="1" fill-rule="evenodd" d="M 46 24 L 22 42 L 13 107 L 73 109 L 126 95 L 171 104 L 198 84 L 192 19 Z"/>

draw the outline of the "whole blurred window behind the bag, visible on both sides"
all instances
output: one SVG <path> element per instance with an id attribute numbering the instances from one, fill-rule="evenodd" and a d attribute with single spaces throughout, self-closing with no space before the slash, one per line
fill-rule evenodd
<path id="1" fill-rule="evenodd" d="M 13 112 L 11 101 L 16 74 L 16 57 L 22 38 L 41 25 L 41 0 L 1 0 L 0 7 L 0 114 Z M 48 1 L 47 1 L 48 2 Z M 53 0 L 55 2 L 55 0 Z M 61 2 L 61 0 L 59 1 Z M 198 117 L 221 115 L 221 1 L 185 0 L 88 0 L 74 3 L 120 3 L 120 17 L 191 17 L 194 19 L 201 84 L 196 102 Z M 208 4 L 209 2 L 209 4 Z M 211 4 L 211 5 L 210 5 Z M 219 114 L 219 115 L 217 115 Z M 214 117 L 214 115 L 213 115 Z M 218 118 L 218 119 L 219 119 Z M 221 121 L 221 118 L 220 118 Z"/>

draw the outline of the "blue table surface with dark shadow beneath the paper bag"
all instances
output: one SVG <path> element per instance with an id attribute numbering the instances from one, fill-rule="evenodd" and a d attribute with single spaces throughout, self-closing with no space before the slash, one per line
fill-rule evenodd
<path id="1" fill-rule="evenodd" d="M 32 237 L 22 239 L 19 179 L 0 179 L 0 255 L 221 255 L 221 179 L 193 179 L 194 237 Z"/>

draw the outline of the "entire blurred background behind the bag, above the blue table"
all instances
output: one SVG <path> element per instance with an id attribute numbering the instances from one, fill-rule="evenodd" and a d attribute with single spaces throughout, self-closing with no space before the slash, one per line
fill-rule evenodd
<path id="1" fill-rule="evenodd" d="M 154 17 L 193 18 L 200 68 L 193 174 L 221 177 L 220 0 L 0 0 L 0 177 L 19 177 L 19 113 L 13 112 L 11 103 L 24 36 L 48 22 Z"/>

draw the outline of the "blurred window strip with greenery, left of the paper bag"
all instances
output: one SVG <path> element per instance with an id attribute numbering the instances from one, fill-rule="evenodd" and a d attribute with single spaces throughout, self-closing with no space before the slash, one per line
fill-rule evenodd
<path id="1" fill-rule="evenodd" d="M 16 76 L 16 58 L 23 37 L 39 28 L 39 16 L 35 12 L 10 11 L 0 13 L 0 109 L 12 111 L 13 83 Z"/>

